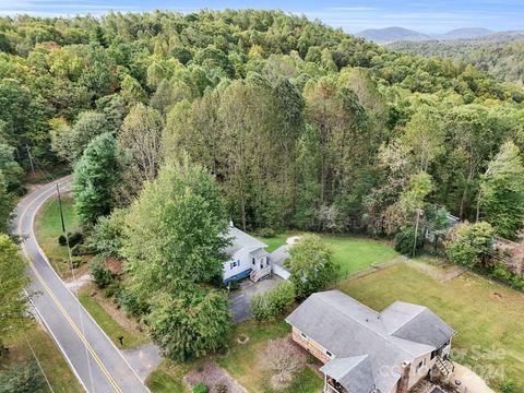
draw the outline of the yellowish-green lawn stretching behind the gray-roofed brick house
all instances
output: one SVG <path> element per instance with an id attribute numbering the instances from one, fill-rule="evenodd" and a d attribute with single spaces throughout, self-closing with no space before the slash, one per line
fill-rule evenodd
<path id="1" fill-rule="evenodd" d="M 452 343 L 456 361 L 495 389 L 510 378 L 514 391 L 524 392 L 524 294 L 469 273 L 438 282 L 405 263 L 340 288 L 376 310 L 395 300 L 429 307 L 457 331 Z"/>

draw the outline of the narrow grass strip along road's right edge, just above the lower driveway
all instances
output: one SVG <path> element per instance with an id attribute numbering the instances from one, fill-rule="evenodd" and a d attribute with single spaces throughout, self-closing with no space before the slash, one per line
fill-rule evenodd
<path id="1" fill-rule="evenodd" d="M 129 332 L 123 326 L 121 326 L 115 319 L 109 315 L 106 310 L 96 301 L 96 299 L 90 296 L 91 290 L 82 290 L 79 294 L 79 300 L 94 318 L 96 323 L 106 332 L 106 334 L 111 338 L 115 345 L 118 348 L 130 349 L 136 348 L 140 345 L 148 343 L 147 336 L 144 334 L 138 336 L 136 334 Z M 123 345 L 120 345 L 118 337 L 123 336 Z"/>

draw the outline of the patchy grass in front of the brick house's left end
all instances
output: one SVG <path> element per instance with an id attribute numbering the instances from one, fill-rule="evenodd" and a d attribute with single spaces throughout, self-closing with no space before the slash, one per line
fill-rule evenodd
<path id="1" fill-rule="evenodd" d="M 270 340 L 284 337 L 290 333 L 290 326 L 284 321 L 257 322 L 245 321 L 234 326 L 229 340 L 229 352 L 224 357 L 217 357 L 216 362 L 227 370 L 248 392 L 273 393 L 271 386 L 272 371 L 265 370 L 261 357 Z M 237 338 L 246 334 L 249 341 L 239 344 Z M 295 373 L 291 383 L 278 392 L 318 393 L 323 381 L 309 367 L 305 366 Z"/>

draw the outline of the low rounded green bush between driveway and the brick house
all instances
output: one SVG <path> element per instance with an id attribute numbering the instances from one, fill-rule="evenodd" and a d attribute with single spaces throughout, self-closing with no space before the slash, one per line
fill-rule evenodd
<path id="1" fill-rule="evenodd" d="M 258 321 L 278 317 L 295 301 L 295 287 L 290 283 L 281 283 L 271 291 L 251 298 L 251 311 Z"/>

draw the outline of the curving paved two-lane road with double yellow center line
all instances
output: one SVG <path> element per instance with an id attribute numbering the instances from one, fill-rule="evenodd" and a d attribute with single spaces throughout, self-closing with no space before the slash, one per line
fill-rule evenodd
<path id="1" fill-rule="evenodd" d="M 58 180 L 67 187 L 70 178 Z M 88 392 L 148 392 L 131 366 L 58 277 L 33 231 L 36 212 L 56 192 L 56 182 L 32 192 L 16 207 L 15 225 L 29 259 L 33 303 L 69 365 Z"/>

